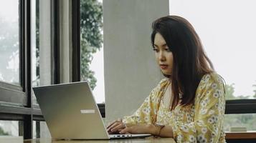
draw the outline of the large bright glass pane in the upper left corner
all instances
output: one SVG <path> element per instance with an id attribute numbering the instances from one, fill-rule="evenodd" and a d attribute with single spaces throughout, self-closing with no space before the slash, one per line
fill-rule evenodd
<path id="1" fill-rule="evenodd" d="M 0 1 L 0 81 L 20 85 L 19 0 Z"/>

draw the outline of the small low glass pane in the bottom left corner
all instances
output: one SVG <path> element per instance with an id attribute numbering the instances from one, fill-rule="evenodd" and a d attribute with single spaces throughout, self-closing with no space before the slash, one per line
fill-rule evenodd
<path id="1" fill-rule="evenodd" d="M 18 121 L 1 121 L 0 120 L 0 136 L 19 136 Z"/>

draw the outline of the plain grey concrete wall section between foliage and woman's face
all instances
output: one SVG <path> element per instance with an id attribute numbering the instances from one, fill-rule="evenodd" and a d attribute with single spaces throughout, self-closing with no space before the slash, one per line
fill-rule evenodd
<path id="1" fill-rule="evenodd" d="M 133 114 L 161 80 L 150 34 L 169 0 L 104 0 L 106 122 Z"/>

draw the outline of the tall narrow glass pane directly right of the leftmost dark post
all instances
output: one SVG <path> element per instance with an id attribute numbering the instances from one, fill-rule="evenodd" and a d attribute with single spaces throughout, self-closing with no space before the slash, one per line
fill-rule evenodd
<path id="1" fill-rule="evenodd" d="M 52 84 L 52 19 L 51 0 L 32 0 L 32 86 Z M 54 15 L 54 14 L 52 14 Z M 33 95 L 33 104 L 37 100 Z"/>

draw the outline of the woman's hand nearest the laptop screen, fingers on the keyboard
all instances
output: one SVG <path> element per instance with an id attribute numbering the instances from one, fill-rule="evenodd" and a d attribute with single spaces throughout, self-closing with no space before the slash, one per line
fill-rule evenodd
<path id="1" fill-rule="evenodd" d="M 107 127 L 108 134 L 120 134 L 119 132 L 122 129 L 125 129 L 125 124 L 122 122 L 122 119 L 115 120 L 108 124 Z"/>

